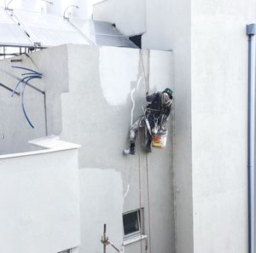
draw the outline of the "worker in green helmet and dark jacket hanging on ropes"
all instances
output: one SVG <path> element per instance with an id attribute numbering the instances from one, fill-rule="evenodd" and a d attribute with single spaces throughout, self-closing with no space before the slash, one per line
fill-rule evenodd
<path id="1" fill-rule="evenodd" d="M 130 148 L 124 150 L 124 154 L 135 154 L 135 143 L 138 129 L 143 129 L 143 147 L 146 152 L 151 152 L 152 136 L 166 135 L 166 123 L 171 112 L 172 89 L 154 92 L 146 95 L 147 106 L 144 115 L 131 125 Z"/>

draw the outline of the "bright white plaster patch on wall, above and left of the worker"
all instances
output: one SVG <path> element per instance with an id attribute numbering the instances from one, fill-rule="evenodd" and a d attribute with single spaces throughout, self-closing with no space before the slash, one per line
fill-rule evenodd
<path id="1" fill-rule="evenodd" d="M 111 106 L 125 105 L 131 82 L 137 80 L 138 50 L 102 47 L 99 61 L 104 97 Z"/>

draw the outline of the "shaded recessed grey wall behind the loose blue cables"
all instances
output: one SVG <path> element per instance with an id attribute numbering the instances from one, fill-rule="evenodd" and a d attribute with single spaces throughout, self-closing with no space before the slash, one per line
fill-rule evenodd
<path id="1" fill-rule="evenodd" d="M 28 63 L 28 61 L 27 61 Z M 20 71 L 11 66 L 27 66 L 14 64 L 9 60 L 0 61 L 1 72 L 0 83 L 15 89 L 16 83 L 19 81 L 16 78 L 21 78 Z M 28 64 L 29 65 L 29 64 Z M 32 66 L 29 66 L 32 67 Z M 15 75 L 16 78 L 10 75 Z M 44 83 L 41 80 L 33 79 L 31 84 L 37 86 L 39 89 L 44 89 Z M 22 84 L 20 85 L 20 88 Z M 21 89 L 17 89 L 18 92 Z M 24 152 L 30 150 L 27 141 L 46 135 L 45 126 L 45 111 L 44 111 L 44 95 L 38 91 L 26 87 L 25 93 L 25 108 L 28 117 L 31 119 L 35 129 L 32 129 L 26 122 L 21 108 L 21 95 L 14 95 L 11 97 L 11 92 L 0 87 L 0 103 L 1 103 L 1 126 L 0 126 L 0 154 L 12 152 Z"/>

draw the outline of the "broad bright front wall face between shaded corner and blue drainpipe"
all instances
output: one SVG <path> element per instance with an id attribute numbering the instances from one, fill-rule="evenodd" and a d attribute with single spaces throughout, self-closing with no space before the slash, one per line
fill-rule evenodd
<path id="1" fill-rule="evenodd" d="M 247 36 L 255 1 L 195 1 L 195 252 L 247 252 Z"/>

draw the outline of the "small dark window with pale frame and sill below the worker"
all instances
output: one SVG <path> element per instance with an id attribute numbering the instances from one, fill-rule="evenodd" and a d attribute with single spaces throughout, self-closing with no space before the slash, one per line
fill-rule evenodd
<path id="1" fill-rule="evenodd" d="M 125 237 L 142 233 L 141 213 L 141 210 L 135 210 L 123 215 Z"/>

